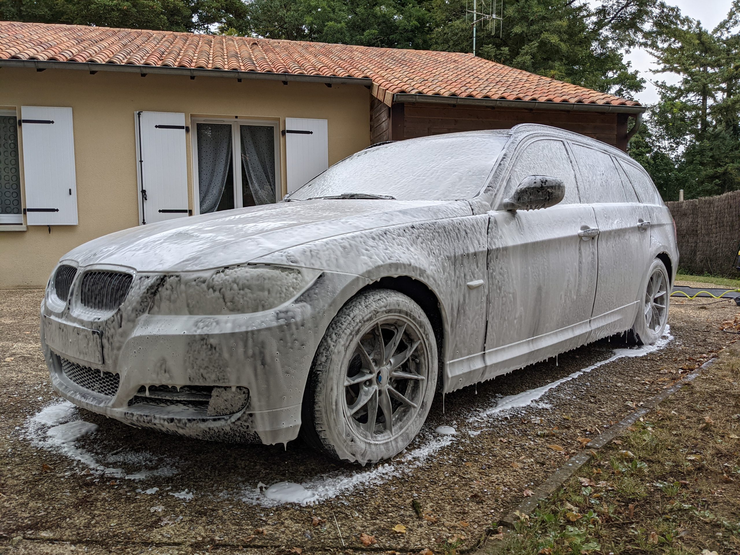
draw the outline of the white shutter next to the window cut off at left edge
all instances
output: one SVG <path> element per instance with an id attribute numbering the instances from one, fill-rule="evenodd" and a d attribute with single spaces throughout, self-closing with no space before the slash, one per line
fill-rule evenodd
<path id="1" fill-rule="evenodd" d="M 21 107 L 26 221 L 77 225 L 72 108 Z"/>

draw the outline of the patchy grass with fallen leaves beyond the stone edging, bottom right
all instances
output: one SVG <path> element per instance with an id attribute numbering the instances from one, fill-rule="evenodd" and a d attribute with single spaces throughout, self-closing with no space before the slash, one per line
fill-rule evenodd
<path id="1" fill-rule="evenodd" d="M 740 554 L 739 382 L 731 346 L 488 554 Z"/>

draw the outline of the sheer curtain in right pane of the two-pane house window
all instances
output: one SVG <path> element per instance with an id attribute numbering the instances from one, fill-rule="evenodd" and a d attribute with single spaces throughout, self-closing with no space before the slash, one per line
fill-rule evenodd
<path id="1" fill-rule="evenodd" d="M 275 202 L 275 134 L 272 127 L 242 125 L 241 161 L 255 204 Z"/>

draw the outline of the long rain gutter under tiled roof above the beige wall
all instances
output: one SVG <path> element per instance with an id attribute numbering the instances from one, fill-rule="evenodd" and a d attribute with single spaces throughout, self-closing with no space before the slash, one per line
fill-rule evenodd
<path id="1" fill-rule="evenodd" d="M 372 79 L 366 77 L 338 77 L 335 75 L 302 75 L 297 73 L 268 73 L 259 71 L 204 70 L 190 67 L 166 67 L 130 64 L 97 64 L 87 61 L 41 61 L 41 60 L 0 60 L 0 67 L 29 67 L 36 70 L 83 70 L 117 71 L 121 73 L 149 73 L 164 75 L 189 75 L 195 77 L 226 77 L 232 79 L 261 79 L 269 81 L 301 81 L 341 85 L 364 85 L 370 87 Z"/>

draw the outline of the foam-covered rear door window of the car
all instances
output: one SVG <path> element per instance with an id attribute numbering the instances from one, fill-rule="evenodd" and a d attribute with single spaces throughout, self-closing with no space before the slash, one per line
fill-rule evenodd
<path id="1" fill-rule="evenodd" d="M 581 198 L 584 203 L 628 202 L 622 178 L 611 156 L 601 150 L 573 144 L 581 171 Z"/>

